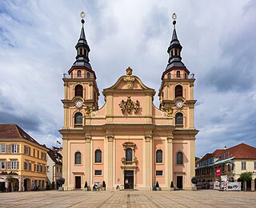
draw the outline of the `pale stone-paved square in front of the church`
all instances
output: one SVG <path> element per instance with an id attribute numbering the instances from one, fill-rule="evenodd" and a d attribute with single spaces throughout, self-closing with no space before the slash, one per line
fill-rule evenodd
<path id="1" fill-rule="evenodd" d="M 256 192 L 30 191 L 0 193 L 0 207 L 256 207 Z"/>

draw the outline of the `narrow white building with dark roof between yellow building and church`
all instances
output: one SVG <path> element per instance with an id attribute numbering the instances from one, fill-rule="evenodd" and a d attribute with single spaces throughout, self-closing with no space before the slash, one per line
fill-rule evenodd
<path id="1" fill-rule="evenodd" d="M 59 153 L 61 148 L 53 147 L 49 149 L 47 155 L 47 186 L 56 188 L 57 180 L 62 178 L 62 155 Z M 53 183 L 54 182 L 54 183 Z"/>

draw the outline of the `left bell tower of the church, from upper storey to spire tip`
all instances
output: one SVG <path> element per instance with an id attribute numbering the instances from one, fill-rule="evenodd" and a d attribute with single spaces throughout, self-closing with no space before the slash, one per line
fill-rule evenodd
<path id="1" fill-rule="evenodd" d="M 90 65 L 90 47 L 86 41 L 84 29 L 85 13 L 81 13 L 82 29 L 75 49 L 76 61 L 71 66 L 68 73 L 63 75 L 64 81 L 64 127 L 82 128 L 85 116 L 90 112 L 98 110 L 98 86 L 96 74 Z"/>

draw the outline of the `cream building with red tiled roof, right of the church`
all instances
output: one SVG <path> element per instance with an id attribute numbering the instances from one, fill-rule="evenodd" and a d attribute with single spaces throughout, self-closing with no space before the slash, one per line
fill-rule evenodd
<path id="1" fill-rule="evenodd" d="M 240 143 L 234 147 L 215 150 L 207 153 L 196 161 L 195 172 L 199 182 L 220 181 L 216 177 L 216 168 L 221 168 L 222 175 L 227 175 L 229 181 L 239 182 L 243 172 L 253 173 L 251 182 L 247 182 L 247 190 L 255 190 L 256 180 L 256 148 Z"/>

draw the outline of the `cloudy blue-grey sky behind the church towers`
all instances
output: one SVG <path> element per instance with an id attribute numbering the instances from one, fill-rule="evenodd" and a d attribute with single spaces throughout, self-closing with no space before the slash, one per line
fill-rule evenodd
<path id="1" fill-rule="evenodd" d="M 74 62 L 81 11 L 100 92 L 128 66 L 158 92 L 175 12 L 182 61 L 196 78 L 196 155 L 256 147 L 255 10 L 255 1 L 242 0 L 2 0 L 0 123 L 18 124 L 48 147 L 61 140 L 62 74 Z"/>

